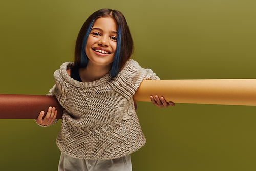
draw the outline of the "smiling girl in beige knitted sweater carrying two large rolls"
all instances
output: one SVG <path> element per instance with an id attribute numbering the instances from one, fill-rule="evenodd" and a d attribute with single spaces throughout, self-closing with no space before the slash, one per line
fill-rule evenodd
<path id="1" fill-rule="evenodd" d="M 83 24 L 75 58 L 54 72 L 54 95 L 65 108 L 56 143 L 61 150 L 59 170 L 132 170 L 130 154 L 145 144 L 133 95 L 146 79 L 159 79 L 130 57 L 133 40 L 121 12 L 101 9 Z M 154 105 L 174 106 L 163 97 Z M 36 122 L 57 122 L 50 107 Z"/>

